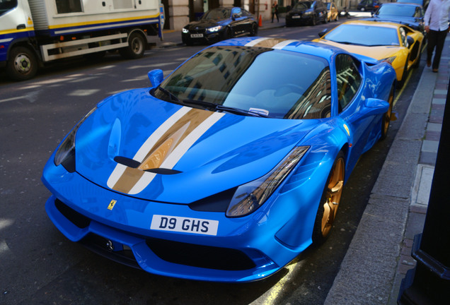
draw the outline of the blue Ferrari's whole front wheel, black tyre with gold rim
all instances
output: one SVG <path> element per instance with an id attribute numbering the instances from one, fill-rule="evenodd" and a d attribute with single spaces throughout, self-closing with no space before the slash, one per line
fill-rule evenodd
<path id="1" fill-rule="evenodd" d="M 313 245 L 318 246 L 328 238 L 339 208 L 344 187 L 345 162 L 342 150 L 337 154 L 328 175 L 313 227 Z"/>

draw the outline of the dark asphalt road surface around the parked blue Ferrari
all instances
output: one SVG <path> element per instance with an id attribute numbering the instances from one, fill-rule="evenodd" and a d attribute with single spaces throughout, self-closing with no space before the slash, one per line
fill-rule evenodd
<path id="1" fill-rule="evenodd" d="M 278 28 L 260 35 L 311 40 L 334 25 Z M 346 184 L 330 239 L 267 280 L 237 285 L 150 275 L 71 243 L 45 213 L 50 192 L 40 181 L 42 168 L 76 121 L 115 92 L 149 86 L 149 70 L 162 68 L 167 75 L 201 48 L 151 49 L 134 61 L 117 54 L 96 64 L 68 61 L 22 83 L 0 75 L 0 304 L 323 304 L 423 62 L 397 100 L 398 119 L 388 138 L 361 157 Z"/>

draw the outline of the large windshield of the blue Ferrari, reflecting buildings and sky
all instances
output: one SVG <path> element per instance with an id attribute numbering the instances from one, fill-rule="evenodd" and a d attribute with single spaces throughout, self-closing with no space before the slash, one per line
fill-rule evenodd
<path id="1" fill-rule="evenodd" d="M 210 47 L 175 70 L 161 87 L 154 95 L 167 101 L 202 101 L 271 118 L 330 115 L 328 61 L 276 49 Z"/>

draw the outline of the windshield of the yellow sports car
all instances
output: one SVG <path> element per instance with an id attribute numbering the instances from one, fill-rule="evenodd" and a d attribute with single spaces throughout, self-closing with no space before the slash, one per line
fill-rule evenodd
<path id="1" fill-rule="evenodd" d="M 372 25 L 340 25 L 325 35 L 323 39 L 367 47 L 400 45 L 396 28 Z"/>

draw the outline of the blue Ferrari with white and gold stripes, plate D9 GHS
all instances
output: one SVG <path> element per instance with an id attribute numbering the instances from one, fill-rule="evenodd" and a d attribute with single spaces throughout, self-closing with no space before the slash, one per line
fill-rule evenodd
<path id="1" fill-rule="evenodd" d="M 245 282 L 328 237 L 386 137 L 396 73 L 314 42 L 246 37 L 98 103 L 45 165 L 71 241 L 149 273 Z"/>

